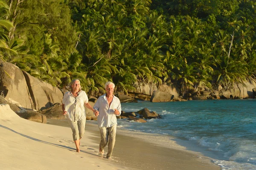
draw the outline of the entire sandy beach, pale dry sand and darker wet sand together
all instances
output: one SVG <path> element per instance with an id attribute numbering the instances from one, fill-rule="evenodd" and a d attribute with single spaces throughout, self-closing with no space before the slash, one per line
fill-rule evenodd
<path id="1" fill-rule="evenodd" d="M 113 160 L 99 156 L 99 129 L 87 121 L 81 152 L 76 153 L 66 121 L 40 124 L 0 105 L 1 170 L 220 170 L 210 158 L 174 140 L 117 129 Z M 105 148 L 105 153 L 107 148 Z"/>

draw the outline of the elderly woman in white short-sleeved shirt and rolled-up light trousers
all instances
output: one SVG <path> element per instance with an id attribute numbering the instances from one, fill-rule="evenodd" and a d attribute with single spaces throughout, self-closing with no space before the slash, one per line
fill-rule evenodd
<path id="1" fill-rule="evenodd" d="M 66 92 L 63 96 L 62 111 L 72 129 L 76 152 L 80 152 L 80 140 L 84 135 L 86 121 L 84 105 L 93 112 L 96 110 L 88 103 L 86 92 L 81 90 L 80 81 L 78 79 L 71 81 L 70 89 L 72 90 Z"/>

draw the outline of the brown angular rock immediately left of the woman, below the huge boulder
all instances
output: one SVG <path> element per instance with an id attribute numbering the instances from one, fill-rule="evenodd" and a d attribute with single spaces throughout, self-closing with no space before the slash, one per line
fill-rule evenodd
<path id="1" fill-rule="evenodd" d="M 65 119 L 65 116 L 62 114 L 61 105 L 60 103 L 55 103 L 52 107 L 40 110 L 39 113 L 51 119 Z"/>

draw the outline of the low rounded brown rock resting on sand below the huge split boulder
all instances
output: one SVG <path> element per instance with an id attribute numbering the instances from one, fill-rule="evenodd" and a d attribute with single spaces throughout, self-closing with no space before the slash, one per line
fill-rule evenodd
<path id="1" fill-rule="evenodd" d="M 47 123 L 47 118 L 45 115 L 42 115 L 39 112 L 35 112 L 33 110 L 21 110 L 20 112 L 17 112 L 17 115 L 30 121 L 35 121 L 43 124 Z"/>

